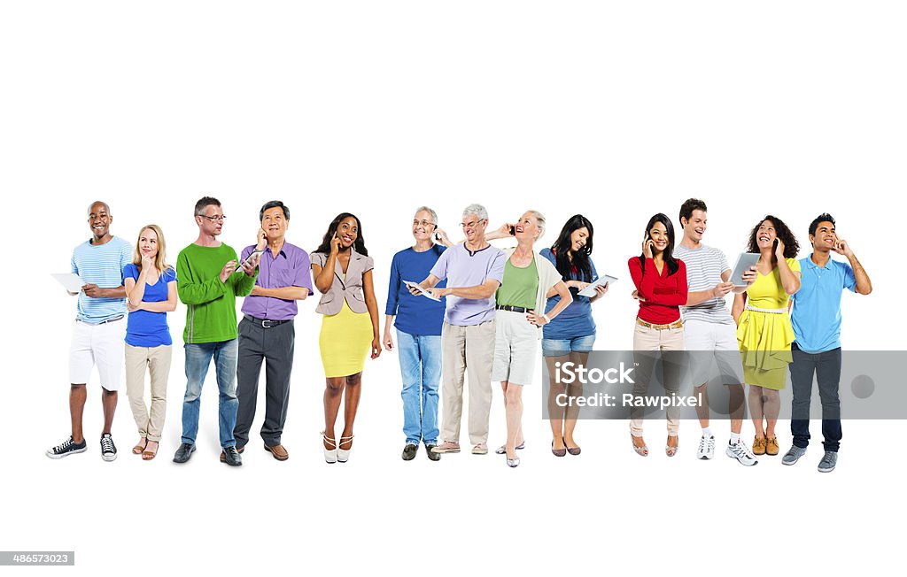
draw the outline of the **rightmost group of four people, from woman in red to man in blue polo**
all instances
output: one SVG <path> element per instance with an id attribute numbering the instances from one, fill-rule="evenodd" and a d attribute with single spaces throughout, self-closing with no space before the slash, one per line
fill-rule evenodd
<path id="1" fill-rule="evenodd" d="M 639 315 L 633 339 L 636 351 L 692 351 L 690 373 L 702 437 L 697 457 L 715 455 L 715 436 L 709 427 L 707 365 L 714 359 L 728 380 L 728 414 L 731 434 L 726 454 L 745 466 L 757 464 L 756 456 L 779 453 L 775 425 L 780 413 L 778 391 L 784 389 L 789 371 L 794 392 L 791 430 L 793 446 L 782 458 L 793 465 L 805 454 L 809 441 L 809 404 L 814 376 L 823 407 L 824 457 L 818 470 L 829 472 L 837 463 L 841 440 L 838 386 L 841 374 L 841 295 L 844 289 L 872 292 L 869 276 L 850 244 L 837 236 L 834 217 L 817 216 L 809 226 L 813 252 L 797 260 L 796 237 L 776 216 L 766 216 L 750 231 L 746 252 L 758 254 L 756 265 L 742 275 L 742 284 L 731 281 L 725 255 L 703 245 L 707 227 L 705 202 L 690 198 L 680 207 L 683 239 L 675 246 L 675 232 L 668 216 L 652 216 L 646 226 L 642 254 L 629 259 L 636 285 Z M 848 263 L 830 258 L 834 252 Z M 725 296 L 735 293 L 728 313 Z M 664 363 L 664 385 L 672 393 L 679 386 L 678 365 Z M 635 395 L 646 393 L 651 362 L 640 363 Z M 648 373 L 648 374 L 647 374 Z M 740 433 L 747 402 L 756 436 L 750 450 Z M 668 440 L 665 452 L 678 452 L 677 410 L 667 410 Z M 649 447 L 643 439 L 640 409 L 630 420 L 634 450 L 643 457 Z"/>

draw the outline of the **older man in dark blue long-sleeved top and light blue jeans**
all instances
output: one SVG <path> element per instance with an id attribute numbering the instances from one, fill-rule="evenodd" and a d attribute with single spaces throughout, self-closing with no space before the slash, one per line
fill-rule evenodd
<path id="1" fill-rule="evenodd" d="M 432 451 L 438 444 L 438 383 L 441 380 L 441 325 L 444 300 L 434 301 L 409 292 L 405 281 L 418 281 L 431 273 L 447 236 L 437 225 L 438 216 L 429 207 L 419 207 L 413 217 L 415 244 L 394 255 L 385 307 L 385 351 L 394 349 L 391 325 L 396 329 L 400 373 L 403 377 L 403 432 L 406 444 L 403 460 L 411 461 L 424 443 L 433 461 L 441 455 Z M 444 287 L 442 281 L 437 284 Z"/>

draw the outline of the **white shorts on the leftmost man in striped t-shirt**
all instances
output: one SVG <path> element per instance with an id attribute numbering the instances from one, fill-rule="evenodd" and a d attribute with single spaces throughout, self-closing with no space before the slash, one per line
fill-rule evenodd
<path id="1" fill-rule="evenodd" d="M 91 324 L 73 322 L 73 343 L 69 349 L 69 382 L 87 384 L 97 365 L 101 386 L 119 390 L 122 358 L 126 350 L 126 317 L 119 321 Z"/>

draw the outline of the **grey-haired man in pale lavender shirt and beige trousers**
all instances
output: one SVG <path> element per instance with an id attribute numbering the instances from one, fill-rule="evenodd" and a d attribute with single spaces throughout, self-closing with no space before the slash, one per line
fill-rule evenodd
<path id="1" fill-rule="evenodd" d="M 435 453 L 460 452 L 463 376 L 469 375 L 469 438 L 473 455 L 488 453 L 488 418 L 492 409 L 494 293 L 501 286 L 506 258 L 485 240 L 488 211 L 482 205 L 463 210 L 465 241 L 438 257 L 420 285 L 435 297 L 447 297 L 441 330 L 443 414 Z M 447 279 L 447 286 L 434 288 Z M 413 293 L 418 291 L 413 290 Z"/>

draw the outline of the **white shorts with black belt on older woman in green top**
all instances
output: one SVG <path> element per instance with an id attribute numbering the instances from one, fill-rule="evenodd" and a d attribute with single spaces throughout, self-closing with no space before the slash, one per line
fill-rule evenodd
<path id="1" fill-rule="evenodd" d="M 498 311 L 495 319 L 492 380 L 531 385 L 539 356 L 539 328 L 526 320 L 526 313 Z"/>

